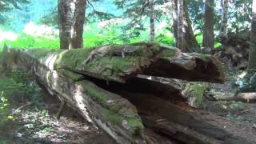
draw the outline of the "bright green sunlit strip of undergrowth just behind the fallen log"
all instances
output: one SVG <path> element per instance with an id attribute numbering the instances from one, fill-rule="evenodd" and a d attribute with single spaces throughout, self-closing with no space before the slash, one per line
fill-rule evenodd
<path id="1" fill-rule="evenodd" d="M 122 40 L 118 37 L 118 34 L 90 34 L 86 33 L 83 36 L 84 47 L 93 47 L 93 46 L 102 46 L 108 44 L 126 44 L 133 42 L 145 41 L 144 38 L 130 38 L 130 41 Z M 141 36 L 142 37 L 142 36 Z M 197 36 L 198 44 L 202 46 L 202 35 Z M 174 37 L 168 36 L 167 34 L 159 34 L 156 37 L 156 42 L 168 45 L 175 46 Z M 1 44 L 2 43 L 2 44 Z M 3 46 L 6 43 L 7 46 L 16 49 L 33 49 L 33 48 L 42 48 L 42 49 L 59 49 L 59 38 L 58 35 L 47 36 L 31 36 L 29 34 L 19 34 L 18 38 L 14 41 L 5 40 L 1 42 L 0 46 Z M 214 48 L 221 46 L 221 43 L 214 42 Z"/>

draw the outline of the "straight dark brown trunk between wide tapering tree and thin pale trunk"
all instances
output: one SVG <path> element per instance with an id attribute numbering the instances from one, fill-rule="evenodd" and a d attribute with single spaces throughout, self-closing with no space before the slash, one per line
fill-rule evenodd
<path id="1" fill-rule="evenodd" d="M 206 0 L 202 46 L 214 48 L 214 0 Z"/>

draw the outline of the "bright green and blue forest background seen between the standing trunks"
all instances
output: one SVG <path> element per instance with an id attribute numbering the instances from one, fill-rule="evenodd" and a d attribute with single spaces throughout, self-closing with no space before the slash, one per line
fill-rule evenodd
<path id="1" fill-rule="evenodd" d="M 3 1 L 1 1 L 3 2 Z M 7 2 L 8 3 L 8 2 Z M 143 6 L 145 1 L 88 1 L 84 28 L 84 46 L 108 43 L 127 43 L 150 39 L 150 10 Z M 41 47 L 58 48 L 57 1 L 17 1 L 15 7 L 8 5 L 0 14 L 0 47 L 7 45 L 17 48 Z M 205 2 L 186 0 L 185 6 L 191 26 L 199 45 L 202 45 Z M 174 46 L 173 6 L 169 1 L 154 1 L 155 39 Z M 221 30 L 222 1 L 214 2 L 214 47 Z M 228 33 L 250 28 L 251 2 L 249 0 L 229 2 Z"/>

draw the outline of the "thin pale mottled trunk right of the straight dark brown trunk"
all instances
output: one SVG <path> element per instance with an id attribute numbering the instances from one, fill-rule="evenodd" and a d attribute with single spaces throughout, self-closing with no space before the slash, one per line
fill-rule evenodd
<path id="1" fill-rule="evenodd" d="M 229 0 L 222 0 L 222 28 L 220 38 L 227 37 L 227 18 L 228 18 Z"/>

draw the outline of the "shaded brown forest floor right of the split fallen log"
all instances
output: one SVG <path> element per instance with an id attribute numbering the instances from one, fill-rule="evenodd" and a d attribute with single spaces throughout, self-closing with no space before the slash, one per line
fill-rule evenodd
<path id="1" fill-rule="evenodd" d="M 226 73 L 224 84 L 210 84 L 210 90 L 218 93 L 218 98 L 233 95 L 232 83 L 242 71 Z M 256 142 L 256 103 L 205 100 L 203 114 L 208 122 L 220 126 L 231 134 Z"/>

